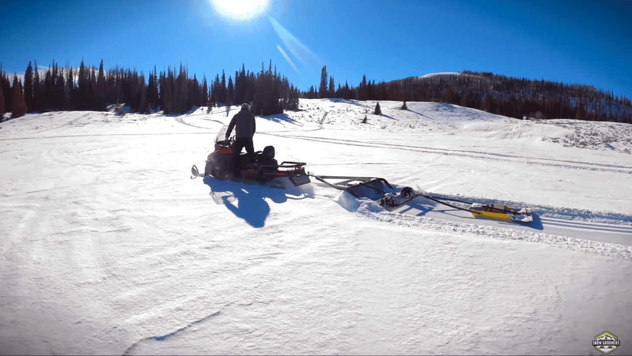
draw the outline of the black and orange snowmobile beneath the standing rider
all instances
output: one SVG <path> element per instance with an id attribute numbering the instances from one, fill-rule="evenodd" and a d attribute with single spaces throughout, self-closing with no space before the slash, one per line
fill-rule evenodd
<path id="1" fill-rule="evenodd" d="M 233 145 L 234 132 L 227 139 L 228 126 L 222 127 L 215 138 L 215 150 L 209 154 L 204 167 L 204 176 L 214 176 L 220 179 L 230 179 L 233 173 Z M 305 173 L 305 163 L 284 161 L 281 164 L 274 158 L 274 147 L 267 146 L 264 150 L 249 154 L 240 154 L 240 173 L 243 179 L 253 179 L 260 183 L 274 178 L 286 177 L 293 185 L 310 183 L 310 178 Z M 200 175 L 195 164 L 191 167 L 191 173 L 195 178 Z"/>

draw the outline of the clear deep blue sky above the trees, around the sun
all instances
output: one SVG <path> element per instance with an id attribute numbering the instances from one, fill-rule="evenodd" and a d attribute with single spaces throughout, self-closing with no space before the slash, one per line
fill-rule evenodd
<path id="1" fill-rule="evenodd" d="M 24 73 L 33 59 L 103 59 L 106 69 L 146 74 L 183 63 L 191 76 L 223 69 L 228 80 L 242 63 L 258 71 L 272 59 L 301 90 L 318 85 L 323 65 L 336 86 L 363 75 L 491 71 L 632 98 L 631 1 L 268 0 L 247 20 L 220 9 L 192 0 L 4 1 L 0 62 Z"/>

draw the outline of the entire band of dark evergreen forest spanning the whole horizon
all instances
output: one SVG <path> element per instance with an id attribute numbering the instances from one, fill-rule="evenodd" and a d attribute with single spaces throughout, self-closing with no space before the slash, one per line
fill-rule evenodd
<path id="1" fill-rule="evenodd" d="M 55 61 L 40 75 L 37 62 L 29 62 L 24 83 L 14 75 L 13 81 L 0 64 L 0 114 L 20 116 L 27 112 L 92 110 L 106 111 L 108 106 L 130 106 L 132 113 L 186 113 L 195 106 L 252 103 L 252 112 L 264 116 L 284 110 L 298 110 L 299 97 L 307 99 L 341 98 L 360 101 L 434 101 L 458 104 L 513 118 L 578 119 L 614 121 L 632 124 L 632 102 L 623 95 L 595 89 L 590 85 L 566 84 L 526 78 L 512 78 L 490 72 L 463 71 L 460 75 L 409 77 L 391 82 L 367 80 L 357 87 L 335 85 L 334 77 L 323 66 L 320 84 L 298 90 L 288 78 L 272 70 L 272 60 L 265 70 L 236 70 L 226 80 L 222 71 L 215 78 L 198 80 L 188 75 L 186 66 L 178 70 L 149 72 L 115 66 L 104 70 L 86 66 L 60 67 Z M 35 68 L 35 70 L 33 69 Z M 2 116 L 0 116 L 1 118 Z"/>

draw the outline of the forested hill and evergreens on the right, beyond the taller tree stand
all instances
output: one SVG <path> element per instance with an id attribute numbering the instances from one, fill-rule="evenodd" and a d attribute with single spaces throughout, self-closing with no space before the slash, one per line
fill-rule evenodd
<path id="1" fill-rule="evenodd" d="M 363 76 L 357 87 L 335 87 L 323 66 L 320 85 L 300 92 L 306 99 L 341 98 L 361 101 L 434 101 L 458 104 L 511 118 L 577 119 L 632 124 L 632 102 L 624 95 L 590 85 L 512 78 L 490 72 L 408 77 L 375 83 Z"/>

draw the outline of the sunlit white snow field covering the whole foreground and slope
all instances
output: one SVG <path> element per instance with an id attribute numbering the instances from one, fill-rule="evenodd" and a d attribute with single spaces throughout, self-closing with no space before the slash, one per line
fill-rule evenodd
<path id="1" fill-rule="evenodd" d="M 236 106 L 27 114 L 0 124 L 1 353 L 596 355 L 606 330 L 632 353 L 628 126 L 300 104 L 257 118 L 255 149 L 544 228 L 191 180 Z"/>

